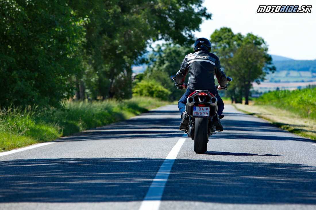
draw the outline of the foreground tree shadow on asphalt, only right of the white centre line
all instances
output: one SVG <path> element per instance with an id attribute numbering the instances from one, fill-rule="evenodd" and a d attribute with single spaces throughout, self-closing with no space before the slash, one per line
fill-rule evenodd
<path id="1" fill-rule="evenodd" d="M 300 164 L 176 160 L 163 200 L 316 204 L 315 175 Z"/>

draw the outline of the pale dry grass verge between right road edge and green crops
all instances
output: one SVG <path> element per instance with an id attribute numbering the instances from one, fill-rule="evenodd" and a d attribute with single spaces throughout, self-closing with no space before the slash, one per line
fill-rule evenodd
<path id="1" fill-rule="evenodd" d="M 316 120 L 267 105 L 232 104 L 237 110 L 269 121 L 283 130 L 316 140 Z"/>

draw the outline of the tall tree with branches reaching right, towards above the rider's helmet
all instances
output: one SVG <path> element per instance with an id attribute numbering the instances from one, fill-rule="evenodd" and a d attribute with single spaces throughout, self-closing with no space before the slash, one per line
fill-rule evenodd
<path id="1" fill-rule="evenodd" d="M 139 62 L 147 46 L 156 40 L 189 44 L 193 31 L 211 14 L 202 0 L 113 0 L 111 2 L 69 0 L 79 17 L 88 16 L 86 25 L 88 64 L 95 75 L 86 78 L 89 88 L 97 88 L 103 98 L 129 97 L 131 67 Z M 90 81 L 88 81 L 90 80 Z M 94 96 L 96 98 L 96 96 Z"/>

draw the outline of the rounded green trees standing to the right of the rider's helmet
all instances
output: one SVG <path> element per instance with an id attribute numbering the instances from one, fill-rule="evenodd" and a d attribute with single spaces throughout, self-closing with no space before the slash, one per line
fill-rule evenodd
<path id="1" fill-rule="evenodd" d="M 212 50 L 220 58 L 228 76 L 233 77 L 228 95 L 232 101 L 241 103 L 245 97 L 248 104 L 252 83 L 260 83 L 269 72 L 274 72 L 268 46 L 264 39 L 248 33 L 234 34 L 230 28 L 223 27 L 211 35 Z"/>

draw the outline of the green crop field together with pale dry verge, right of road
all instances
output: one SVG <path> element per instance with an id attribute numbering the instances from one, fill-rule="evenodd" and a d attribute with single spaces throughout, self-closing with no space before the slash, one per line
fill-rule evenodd
<path id="1" fill-rule="evenodd" d="M 316 88 L 265 93 L 252 105 L 233 104 L 240 111 L 302 137 L 316 140 Z"/>

